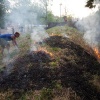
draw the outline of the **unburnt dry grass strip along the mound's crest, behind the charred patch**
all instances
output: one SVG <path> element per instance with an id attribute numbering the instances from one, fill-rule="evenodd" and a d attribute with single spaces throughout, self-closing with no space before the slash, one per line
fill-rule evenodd
<path id="1" fill-rule="evenodd" d="M 80 45 L 83 47 L 89 54 L 93 54 L 92 48 L 84 41 L 83 35 L 84 33 L 81 33 L 75 28 L 68 27 L 68 26 L 57 26 L 51 29 L 47 30 L 48 34 L 52 35 L 61 35 L 61 36 L 68 36 L 71 41 L 73 41 L 75 44 Z"/>

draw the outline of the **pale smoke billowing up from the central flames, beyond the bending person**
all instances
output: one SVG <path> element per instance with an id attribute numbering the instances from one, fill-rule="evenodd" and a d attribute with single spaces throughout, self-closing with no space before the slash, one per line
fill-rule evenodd
<path id="1" fill-rule="evenodd" d="M 15 31 L 20 27 L 23 28 L 23 33 L 31 34 L 31 41 L 34 43 L 43 41 L 43 39 L 48 36 L 40 21 L 40 19 L 46 17 L 43 7 L 44 3 L 45 0 L 43 2 L 37 2 L 35 0 L 33 0 L 33 2 L 32 0 L 16 0 L 14 2 L 15 6 L 12 6 L 11 13 L 7 17 L 8 23 L 13 24 L 12 26 L 15 28 Z M 31 49 L 32 48 L 36 48 L 33 43 L 31 45 Z"/>

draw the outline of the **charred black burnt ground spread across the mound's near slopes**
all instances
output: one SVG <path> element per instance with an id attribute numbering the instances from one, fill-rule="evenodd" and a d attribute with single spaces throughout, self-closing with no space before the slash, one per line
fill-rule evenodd
<path id="1" fill-rule="evenodd" d="M 100 90 L 90 82 L 93 75 L 100 76 L 97 59 L 68 38 L 51 36 L 45 43 L 51 48 L 61 48 L 59 64 L 52 68 L 49 63 L 55 60 L 43 52 L 35 57 L 27 53 L 16 60 L 13 71 L 0 81 L 0 92 L 12 89 L 12 95 L 19 98 L 29 90 L 54 88 L 52 82 L 61 81 L 62 87 L 70 87 L 80 100 L 100 100 Z M 3 72 L 0 74 L 2 77 Z"/>

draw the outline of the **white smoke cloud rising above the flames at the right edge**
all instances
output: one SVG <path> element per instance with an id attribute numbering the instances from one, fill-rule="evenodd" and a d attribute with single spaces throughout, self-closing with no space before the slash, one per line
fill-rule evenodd
<path id="1" fill-rule="evenodd" d="M 76 27 L 84 33 L 83 38 L 91 47 L 100 45 L 100 9 L 78 20 Z"/>

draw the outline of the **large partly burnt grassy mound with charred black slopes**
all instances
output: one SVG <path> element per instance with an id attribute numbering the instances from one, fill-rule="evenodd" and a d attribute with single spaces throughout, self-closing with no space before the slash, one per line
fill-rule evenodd
<path id="1" fill-rule="evenodd" d="M 20 37 L 20 52 L 11 53 L 14 68 L 0 82 L 0 100 L 99 100 L 100 64 L 83 34 L 68 26 L 46 31 L 50 38 L 41 46 L 52 56 L 34 60 L 30 34 Z"/>

